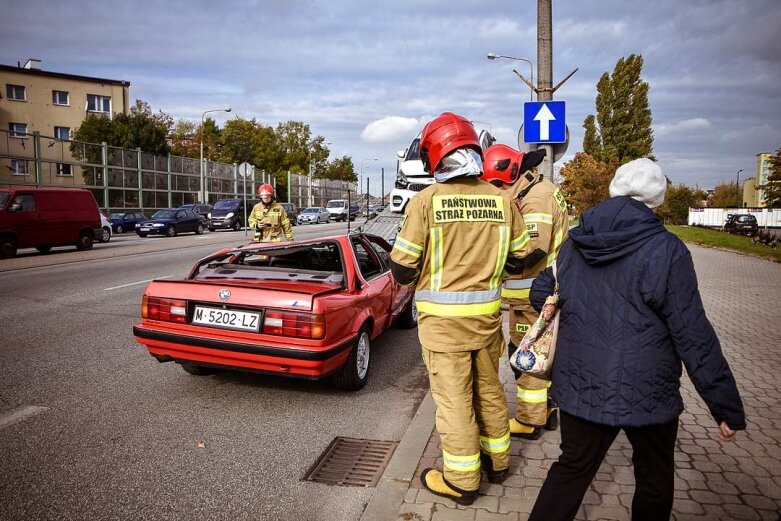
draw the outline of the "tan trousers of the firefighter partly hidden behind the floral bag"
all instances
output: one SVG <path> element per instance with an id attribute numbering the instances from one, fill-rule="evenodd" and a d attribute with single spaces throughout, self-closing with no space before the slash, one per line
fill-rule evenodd
<path id="1" fill-rule="evenodd" d="M 518 346 L 523 335 L 537 320 L 539 313 L 527 300 L 510 306 L 510 341 Z M 512 353 L 509 353 L 512 354 Z M 517 373 L 516 373 L 517 375 Z M 515 419 L 532 427 L 543 427 L 548 421 L 550 380 L 521 373 L 516 379 Z"/>

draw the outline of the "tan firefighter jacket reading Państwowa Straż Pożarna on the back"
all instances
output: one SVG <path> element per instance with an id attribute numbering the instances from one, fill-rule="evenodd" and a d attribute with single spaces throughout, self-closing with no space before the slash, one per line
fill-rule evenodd
<path id="1" fill-rule="evenodd" d="M 420 341 L 459 352 L 503 343 L 501 282 L 529 234 L 510 194 L 473 177 L 436 183 L 408 203 L 391 260 L 414 270 Z"/>

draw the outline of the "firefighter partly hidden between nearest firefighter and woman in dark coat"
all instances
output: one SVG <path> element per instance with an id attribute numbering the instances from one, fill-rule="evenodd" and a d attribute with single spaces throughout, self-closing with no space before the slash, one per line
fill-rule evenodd
<path id="1" fill-rule="evenodd" d="M 510 355 L 538 316 L 529 302 L 532 281 L 553 264 L 567 237 L 569 216 L 564 196 L 536 170 L 544 157 L 544 150 L 524 154 L 498 144 L 486 149 L 483 162 L 483 179 L 511 194 L 530 237 L 532 253 L 526 260 L 526 269 L 502 284 L 502 299 L 510 314 Z M 549 397 L 550 380 L 518 372 L 515 377 L 518 392 L 510 434 L 534 440 L 542 436 L 544 429 L 555 430 L 558 408 Z"/>

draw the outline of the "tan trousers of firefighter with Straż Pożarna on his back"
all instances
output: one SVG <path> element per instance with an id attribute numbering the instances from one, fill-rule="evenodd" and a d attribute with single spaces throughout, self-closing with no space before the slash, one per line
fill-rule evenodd
<path id="1" fill-rule="evenodd" d="M 501 338 L 475 351 L 441 353 L 423 348 L 437 406 L 436 426 L 442 444 L 445 480 L 462 490 L 480 486 L 480 452 L 493 470 L 510 466 L 507 400 L 499 380 Z"/>

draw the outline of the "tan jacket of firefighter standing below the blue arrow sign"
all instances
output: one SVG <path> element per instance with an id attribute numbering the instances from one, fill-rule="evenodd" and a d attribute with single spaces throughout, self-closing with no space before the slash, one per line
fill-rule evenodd
<path id="1" fill-rule="evenodd" d="M 502 284 L 502 298 L 512 306 L 521 300 L 528 304 L 532 281 L 556 260 L 567 237 L 569 215 L 559 188 L 536 172 L 522 176 L 510 193 L 529 232 L 529 251 L 540 257 L 522 274 L 509 276 Z"/>

